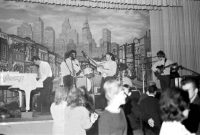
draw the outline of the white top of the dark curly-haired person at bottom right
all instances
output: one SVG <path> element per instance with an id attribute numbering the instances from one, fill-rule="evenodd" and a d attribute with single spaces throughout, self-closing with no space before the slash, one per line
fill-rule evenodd
<path id="1" fill-rule="evenodd" d="M 165 121 L 162 123 L 160 135 L 195 135 L 190 133 L 181 122 Z"/>

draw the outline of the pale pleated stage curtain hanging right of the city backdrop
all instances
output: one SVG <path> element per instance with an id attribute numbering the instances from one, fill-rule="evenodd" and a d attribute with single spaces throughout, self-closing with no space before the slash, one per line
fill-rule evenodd
<path id="1" fill-rule="evenodd" d="M 182 75 L 200 73 L 200 2 L 184 0 L 183 7 L 162 7 L 150 11 L 152 56 L 164 50 L 167 57 L 182 65 Z"/>

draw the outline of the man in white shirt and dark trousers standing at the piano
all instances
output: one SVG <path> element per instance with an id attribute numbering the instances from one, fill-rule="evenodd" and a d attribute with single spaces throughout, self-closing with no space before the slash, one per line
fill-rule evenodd
<path id="1" fill-rule="evenodd" d="M 40 104 L 41 112 L 50 112 L 51 105 L 51 92 L 53 89 L 53 78 L 51 66 L 48 62 L 40 60 L 38 56 L 32 57 L 32 62 L 38 66 L 38 81 L 43 82 L 43 88 L 40 91 Z"/>

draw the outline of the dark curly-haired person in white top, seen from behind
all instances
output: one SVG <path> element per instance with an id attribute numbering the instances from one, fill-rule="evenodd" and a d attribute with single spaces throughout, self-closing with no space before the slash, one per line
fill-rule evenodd
<path id="1" fill-rule="evenodd" d="M 179 88 L 168 88 L 161 95 L 160 108 L 163 123 L 160 135 L 193 135 L 182 121 L 189 113 L 188 93 Z"/>

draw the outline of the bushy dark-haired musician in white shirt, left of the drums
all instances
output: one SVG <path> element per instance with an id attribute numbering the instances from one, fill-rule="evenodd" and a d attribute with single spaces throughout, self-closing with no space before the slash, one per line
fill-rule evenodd
<path id="1" fill-rule="evenodd" d="M 76 86 L 76 76 L 81 73 L 81 66 L 76 59 L 76 51 L 71 50 L 66 52 L 64 61 L 60 65 L 61 82 L 60 85 L 70 89 L 73 85 Z"/>

